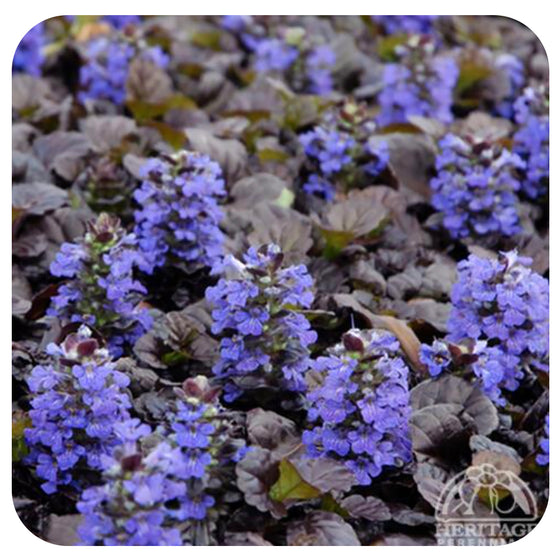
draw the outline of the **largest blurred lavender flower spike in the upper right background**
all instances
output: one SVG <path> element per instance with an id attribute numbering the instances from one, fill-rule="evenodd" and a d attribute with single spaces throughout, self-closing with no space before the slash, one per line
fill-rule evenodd
<path id="1" fill-rule="evenodd" d="M 453 120 L 453 90 L 459 68 L 453 58 L 437 54 L 430 35 L 408 35 L 394 49 L 396 61 L 386 64 L 378 96 L 378 123 L 386 126 L 422 116 L 443 123 Z"/>

